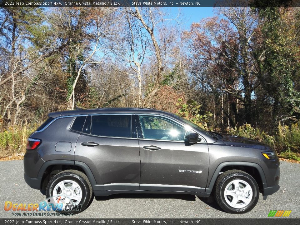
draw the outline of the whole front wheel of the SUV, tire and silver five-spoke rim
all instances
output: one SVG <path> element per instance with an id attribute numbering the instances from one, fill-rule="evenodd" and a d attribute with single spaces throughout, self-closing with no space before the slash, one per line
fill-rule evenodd
<path id="1" fill-rule="evenodd" d="M 256 206 L 259 188 L 248 173 L 228 170 L 218 176 L 214 194 L 218 205 L 225 212 L 245 213 Z"/>

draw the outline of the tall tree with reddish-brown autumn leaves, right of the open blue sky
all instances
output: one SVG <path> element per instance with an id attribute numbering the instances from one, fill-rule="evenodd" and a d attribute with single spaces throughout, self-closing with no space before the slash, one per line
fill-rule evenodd
<path id="1" fill-rule="evenodd" d="M 238 121 L 237 101 L 246 123 L 252 122 L 252 99 L 260 85 L 257 75 L 263 55 L 257 54 L 258 19 L 249 8 L 221 8 L 220 16 L 193 23 L 183 37 L 192 50 L 191 73 L 201 87 L 227 99 L 230 125 Z M 222 16 L 221 16 L 222 15 Z M 230 110 L 234 114 L 231 118 Z"/>

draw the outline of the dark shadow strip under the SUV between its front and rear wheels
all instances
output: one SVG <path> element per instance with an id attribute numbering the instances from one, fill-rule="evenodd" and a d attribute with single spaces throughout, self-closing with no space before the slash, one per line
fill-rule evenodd
<path id="1" fill-rule="evenodd" d="M 109 196 L 95 196 L 95 200 L 97 201 L 107 201 L 118 198 L 173 198 L 185 201 L 196 201 L 196 196 L 189 194 L 113 194 Z"/>

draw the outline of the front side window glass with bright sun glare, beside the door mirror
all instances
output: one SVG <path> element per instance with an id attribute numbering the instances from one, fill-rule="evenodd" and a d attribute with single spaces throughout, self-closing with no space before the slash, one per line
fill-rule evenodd
<path id="1" fill-rule="evenodd" d="M 143 138 L 156 140 L 184 141 L 190 133 L 171 120 L 156 116 L 139 116 Z"/>

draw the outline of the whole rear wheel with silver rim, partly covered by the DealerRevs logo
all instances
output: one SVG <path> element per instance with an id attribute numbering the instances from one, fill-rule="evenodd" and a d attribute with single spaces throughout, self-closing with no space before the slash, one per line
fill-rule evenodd
<path id="1" fill-rule="evenodd" d="M 54 205 L 59 201 L 63 203 L 63 207 L 55 210 L 56 212 L 82 212 L 91 201 L 92 195 L 93 189 L 88 177 L 78 170 L 64 170 L 56 174 L 46 188 L 48 202 Z"/>

